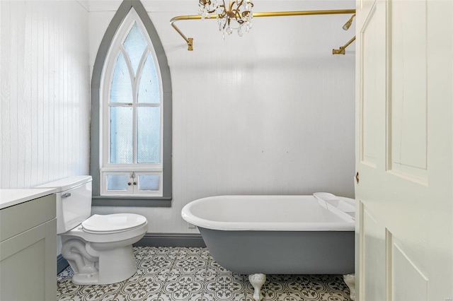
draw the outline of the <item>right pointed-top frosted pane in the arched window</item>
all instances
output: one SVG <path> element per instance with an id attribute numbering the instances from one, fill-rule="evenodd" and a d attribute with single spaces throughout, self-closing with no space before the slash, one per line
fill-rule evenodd
<path id="1" fill-rule="evenodd" d="M 156 65 L 151 52 L 149 52 L 147 61 L 144 63 L 142 76 L 140 77 L 138 101 L 147 103 L 161 102 Z"/>

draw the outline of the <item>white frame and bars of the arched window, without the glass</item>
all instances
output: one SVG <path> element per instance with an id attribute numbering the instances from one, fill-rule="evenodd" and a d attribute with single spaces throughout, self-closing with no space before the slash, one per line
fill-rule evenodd
<path id="1" fill-rule="evenodd" d="M 133 103 L 130 105 L 133 107 L 133 122 L 134 122 L 134 132 L 133 132 L 133 141 L 134 141 L 134 160 L 137 160 L 137 114 L 136 108 L 137 107 L 160 107 L 160 152 L 159 152 L 159 163 L 132 163 L 132 164 L 117 164 L 117 163 L 110 163 L 110 107 L 113 106 L 120 106 L 123 107 L 125 103 L 109 103 L 110 101 L 110 90 L 111 90 L 111 83 L 113 79 L 113 73 L 115 71 L 115 65 L 117 61 L 117 57 L 120 52 L 123 52 L 123 56 L 126 59 L 127 68 L 130 70 L 130 74 L 132 74 L 132 66 L 130 64 L 129 59 L 125 55 L 127 52 L 125 51 L 124 46 L 122 45 L 125 41 L 127 34 L 130 32 L 130 29 L 137 23 L 140 30 L 142 31 L 142 35 L 144 36 L 145 40 L 147 40 L 147 47 L 142 54 L 142 59 L 140 60 L 139 67 L 137 69 L 137 75 L 135 78 L 131 75 L 131 83 L 132 83 L 132 95 L 133 95 Z M 151 53 L 151 57 L 154 59 L 154 64 L 156 66 L 156 73 L 157 78 L 159 80 L 159 103 L 138 103 L 137 102 L 137 90 L 139 88 L 139 81 L 142 74 L 142 69 L 144 63 L 146 62 L 148 53 Z M 122 20 L 120 27 L 115 33 L 115 37 L 113 38 L 113 42 L 110 45 L 110 49 L 108 50 L 108 54 L 105 58 L 105 65 L 103 68 L 103 73 L 101 75 L 101 89 L 100 89 L 100 127 L 99 127 L 99 150 L 100 150 L 100 192 L 101 195 L 105 196 L 162 196 L 162 187 L 163 187 L 163 155 L 164 155 L 164 105 L 163 105 L 163 84 L 161 78 L 161 72 L 159 68 L 159 62 L 157 61 L 156 52 L 154 51 L 154 47 L 152 45 L 151 39 L 147 33 L 147 29 L 144 27 L 142 20 L 139 18 L 137 12 L 134 8 L 130 9 L 130 12 L 127 16 Z M 138 189 L 128 189 L 128 191 L 109 191 L 107 189 L 107 175 L 112 174 L 132 174 L 135 172 L 136 174 L 140 175 L 159 175 L 159 190 L 156 191 L 138 191 Z M 138 185 L 137 185 L 138 187 Z"/>

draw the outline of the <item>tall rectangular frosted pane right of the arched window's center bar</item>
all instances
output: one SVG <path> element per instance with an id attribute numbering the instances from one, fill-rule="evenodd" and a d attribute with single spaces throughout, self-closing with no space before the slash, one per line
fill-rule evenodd
<path id="1" fill-rule="evenodd" d="M 137 163 L 160 163 L 161 108 L 137 107 Z"/>

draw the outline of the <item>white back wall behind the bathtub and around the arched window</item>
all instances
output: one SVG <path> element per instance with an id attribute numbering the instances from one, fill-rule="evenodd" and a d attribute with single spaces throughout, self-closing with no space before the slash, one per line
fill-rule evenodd
<path id="1" fill-rule="evenodd" d="M 196 232 L 180 218 L 186 203 L 220 194 L 353 196 L 354 47 L 350 16 L 256 18 L 243 37 L 222 40 L 216 20 L 177 23 L 189 1 L 143 1 L 163 42 L 173 84 L 171 208 L 95 207 L 134 212 L 149 232 Z M 256 1 L 256 11 L 354 8 L 354 1 Z M 117 1 L 90 6 L 90 66 Z M 181 6 L 180 6 L 181 5 Z M 240 208 L 238 208 L 240 210 Z"/>

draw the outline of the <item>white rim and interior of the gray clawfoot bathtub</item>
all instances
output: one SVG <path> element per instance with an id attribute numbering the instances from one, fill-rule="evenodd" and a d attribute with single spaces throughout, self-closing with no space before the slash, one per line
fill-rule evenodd
<path id="1" fill-rule="evenodd" d="M 326 193 L 316 197 L 212 196 L 190 202 L 182 216 L 188 223 L 214 230 L 354 230 L 353 202 Z"/>

